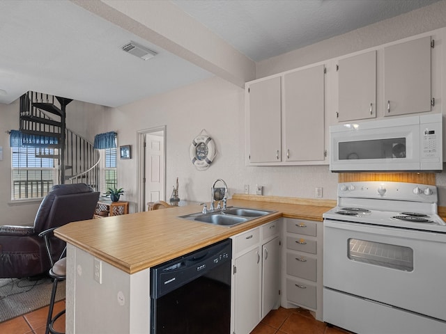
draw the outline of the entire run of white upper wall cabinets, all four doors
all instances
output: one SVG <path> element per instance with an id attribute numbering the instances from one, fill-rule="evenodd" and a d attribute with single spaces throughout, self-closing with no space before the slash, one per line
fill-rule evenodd
<path id="1" fill-rule="evenodd" d="M 247 82 L 246 164 L 328 164 L 330 125 L 445 113 L 445 39 L 442 28 Z"/>

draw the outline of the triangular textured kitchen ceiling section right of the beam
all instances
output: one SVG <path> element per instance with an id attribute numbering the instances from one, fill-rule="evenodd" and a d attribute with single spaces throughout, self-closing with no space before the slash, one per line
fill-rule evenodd
<path id="1" fill-rule="evenodd" d="M 173 0 L 210 31 L 263 61 L 438 0 Z"/>

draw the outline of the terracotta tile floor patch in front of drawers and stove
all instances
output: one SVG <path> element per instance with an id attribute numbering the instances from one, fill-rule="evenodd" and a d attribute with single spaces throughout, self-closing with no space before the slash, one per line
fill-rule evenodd
<path id="1" fill-rule="evenodd" d="M 328 327 L 302 308 L 272 310 L 251 334 L 349 334 L 337 327 Z"/>

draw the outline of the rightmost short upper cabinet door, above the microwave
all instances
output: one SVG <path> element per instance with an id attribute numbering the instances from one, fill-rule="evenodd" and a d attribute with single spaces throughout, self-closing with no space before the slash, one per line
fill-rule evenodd
<path id="1" fill-rule="evenodd" d="M 384 116 L 431 111 L 431 36 L 384 48 Z"/>

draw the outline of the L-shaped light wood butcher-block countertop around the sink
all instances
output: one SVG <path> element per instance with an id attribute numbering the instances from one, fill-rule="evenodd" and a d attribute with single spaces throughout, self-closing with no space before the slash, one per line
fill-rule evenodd
<path id="1" fill-rule="evenodd" d="M 228 200 L 228 206 L 230 205 L 266 209 L 275 213 L 233 227 L 225 227 L 178 218 L 185 214 L 201 212 L 200 205 L 189 205 L 77 221 L 56 229 L 54 234 L 132 274 L 282 216 L 322 222 L 322 214 L 334 207 L 336 201 L 234 195 L 233 199 Z"/>

